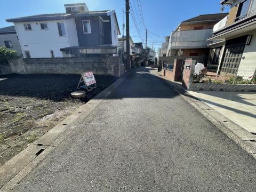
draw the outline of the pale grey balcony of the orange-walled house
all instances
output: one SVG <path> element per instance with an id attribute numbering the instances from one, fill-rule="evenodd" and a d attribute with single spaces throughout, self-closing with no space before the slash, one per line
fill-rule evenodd
<path id="1" fill-rule="evenodd" d="M 169 49 L 206 48 L 212 29 L 172 31 Z"/>

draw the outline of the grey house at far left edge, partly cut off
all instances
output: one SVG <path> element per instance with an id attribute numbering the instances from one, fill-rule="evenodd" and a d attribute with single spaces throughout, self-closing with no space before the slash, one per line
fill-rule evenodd
<path id="1" fill-rule="evenodd" d="M 0 46 L 5 46 L 9 50 L 15 50 L 19 56 L 23 57 L 19 39 L 14 26 L 0 29 Z"/>

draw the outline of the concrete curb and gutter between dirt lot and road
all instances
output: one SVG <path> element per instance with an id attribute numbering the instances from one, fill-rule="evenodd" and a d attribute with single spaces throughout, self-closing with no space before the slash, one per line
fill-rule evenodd
<path id="1" fill-rule="evenodd" d="M 85 105 L 79 107 L 73 114 L 54 126 L 41 138 L 31 143 L 26 149 L 2 165 L 0 167 L 0 191 L 14 189 L 129 75 L 129 73 L 124 74 L 89 102 L 85 103 Z"/>

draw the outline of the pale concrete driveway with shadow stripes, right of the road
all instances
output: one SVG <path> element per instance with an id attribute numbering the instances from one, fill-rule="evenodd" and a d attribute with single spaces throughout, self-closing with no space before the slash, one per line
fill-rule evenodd
<path id="1" fill-rule="evenodd" d="M 238 92 L 195 92 L 189 94 L 217 110 L 246 131 L 256 133 L 256 94 Z"/>

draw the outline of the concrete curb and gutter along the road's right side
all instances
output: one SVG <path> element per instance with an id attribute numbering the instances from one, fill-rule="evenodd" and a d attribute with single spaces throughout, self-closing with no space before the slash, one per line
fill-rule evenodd
<path id="1" fill-rule="evenodd" d="M 182 86 L 171 82 L 169 79 L 163 76 L 159 76 L 155 73 L 155 71 L 152 72 L 155 76 L 162 78 L 167 85 L 172 86 L 174 91 L 176 91 L 180 97 L 197 109 L 199 113 L 213 123 L 220 131 L 226 134 L 228 138 L 233 140 L 238 146 L 256 159 L 256 135 L 247 132 L 241 126 L 223 116 L 218 111 L 214 110 L 210 106 L 207 106 L 203 101 L 198 100 L 193 95 L 186 92 Z"/>

